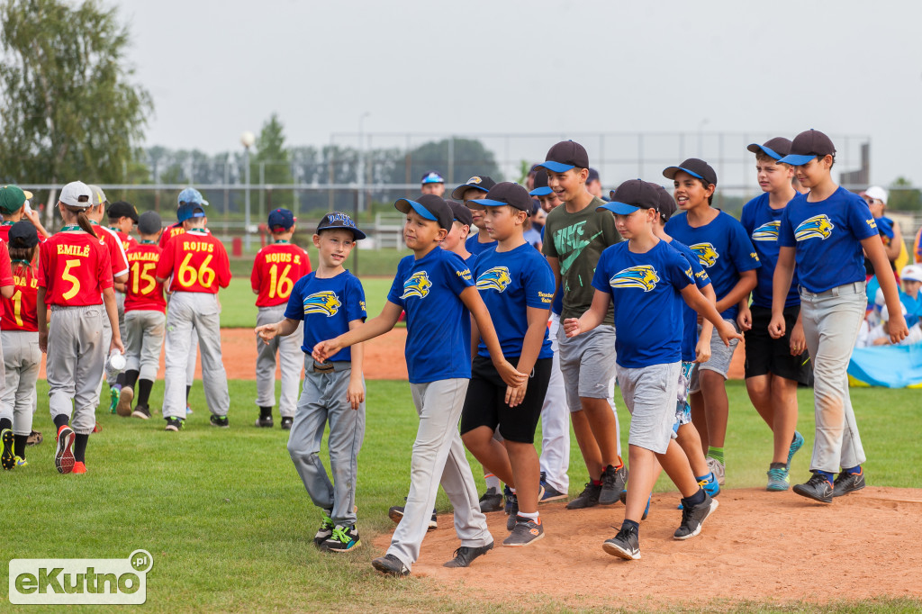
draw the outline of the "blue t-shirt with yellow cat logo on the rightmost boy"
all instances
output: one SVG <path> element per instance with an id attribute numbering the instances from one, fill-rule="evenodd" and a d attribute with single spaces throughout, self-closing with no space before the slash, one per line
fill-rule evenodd
<path id="1" fill-rule="evenodd" d="M 781 216 L 778 244 L 795 248 L 800 286 L 825 292 L 865 280 L 861 241 L 877 235 L 868 204 L 840 187 L 817 203 L 795 196 Z"/>

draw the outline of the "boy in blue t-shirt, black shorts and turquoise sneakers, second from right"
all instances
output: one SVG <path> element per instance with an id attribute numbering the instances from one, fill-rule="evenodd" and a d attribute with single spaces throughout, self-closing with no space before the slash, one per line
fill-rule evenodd
<path id="1" fill-rule="evenodd" d="M 787 203 L 798 193 L 791 184 L 794 169 L 778 160 L 790 153 L 791 142 L 781 136 L 763 145 L 751 144 L 756 178 L 763 194 L 743 207 L 740 223 L 752 240 L 759 262 L 758 283 L 739 303 L 737 323 L 746 338 L 746 391 L 752 405 L 774 434 L 774 454 L 768 467 L 766 490 L 790 488 L 791 458 L 804 443 L 798 425 L 798 384 L 810 384 L 810 356 L 800 325 L 800 297 L 795 276 L 785 301 L 785 337 L 768 334 L 772 320 L 772 279 L 778 262 L 778 227 Z"/>

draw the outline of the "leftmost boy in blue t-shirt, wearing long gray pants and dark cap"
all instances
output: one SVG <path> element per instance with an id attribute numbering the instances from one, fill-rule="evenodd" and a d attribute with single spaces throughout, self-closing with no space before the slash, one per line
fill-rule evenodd
<path id="1" fill-rule="evenodd" d="M 365 292 L 361 281 L 343 263 L 365 233 L 345 213 L 320 220 L 313 244 L 317 270 L 301 277 L 291 289 L 285 319 L 257 326 L 266 343 L 286 337 L 304 322 L 301 349 L 309 354 L 318 341 L 341 335 L 365 320 Z M 365 435 L 365 381 L 361 372 L 362 346 L 340 352 L 326 364 L 304 358 L 304 389 L 291 423 L 288 451 L 323 521 L 313 542 L 320 549 L 344 552 L 361 545 L 356 529 L 355 486 L 359 450 Z M 331 482 L 320 460 L 320 443 L 329 422 L 328 447 Z"/>

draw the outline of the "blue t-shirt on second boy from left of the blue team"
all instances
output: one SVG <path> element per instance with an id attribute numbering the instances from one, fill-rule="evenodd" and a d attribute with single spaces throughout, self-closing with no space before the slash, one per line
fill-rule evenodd
<path id="1" fill-rule="evenodd" d="M 470 312 L 460 296 L 473 285 L 461 256 L 441 247 L 397 265 L 387 300 L 407 313 L 410 384 L 470 379 Z"/>

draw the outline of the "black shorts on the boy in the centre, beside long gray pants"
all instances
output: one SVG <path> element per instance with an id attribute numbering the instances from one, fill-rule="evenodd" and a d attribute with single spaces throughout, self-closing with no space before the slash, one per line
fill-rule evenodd
<path id="1" fill-rule="evenodd" d="M 518 357 L 506 357 L 512 364 Z M 535 443 L 535 430 L 541 418 L 544 395 L 548 392 L 553 359 L 538 359 L 528 378 L 522 403 L 506 405 L 506 384 L 489 358 L 478 356 L 471 366 L 470 384 L 461 411 L 461 434 L 485 426 L 500 428 L 503 439 L 516 443 Z"/>

